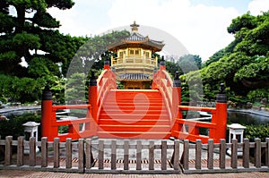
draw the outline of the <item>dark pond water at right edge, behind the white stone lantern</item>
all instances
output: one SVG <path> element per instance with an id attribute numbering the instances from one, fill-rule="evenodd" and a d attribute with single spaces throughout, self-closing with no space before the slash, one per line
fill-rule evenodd
<path id="1" fill-rule="evenodd" d="M 228 120 L 231 123 L 240 123 L 243 125 L 269 123 L 269 113 L 267 115 L 251 114 L 240 111 L 229 111 Z"/>

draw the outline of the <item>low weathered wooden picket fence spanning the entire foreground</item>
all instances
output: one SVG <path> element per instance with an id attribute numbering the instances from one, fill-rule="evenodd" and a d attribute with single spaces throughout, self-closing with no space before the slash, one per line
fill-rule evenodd
<path id="1" fill-rule="evenodd" d="M 220 143 L 213 143 L 213 140 L 208 140 L 208 143 L 202 143 L 201 140 L 190 143 L 184 140 L 180 144 L 179 140 L 161 140 L 156 143 L 154 140 L 72 141 L 68 138 L 60 142 L 58 138 L 54 141 L 30 138 L 30 141 L 25 141 L 23 137 L 13 140 L 13 137 L 8 136 L 0 140 L 0 147 L 4 147 L 4 161 L 0 163 L 0 169 L 96 174 L 269 171 L 269 139 L 265 142 L 259 139 L 249 142 L 245 139 L 243 143 L 237 140 L 232 140 L 232 143 L 226 143 L 225 140 Z M 39 153 L 36 153 L 37 147 L 40 148 Z M 25 148 L 29 149 L 29 155 L 25 154 Z M 231 149 L 230 157 L 226 155 L 228 148 Z M 13 153 L 14 150 L 16 153 Z M 134 155 L 130 154 L 131 150 Z M 241 158 L 238 157 L 239 150 L 242 150 Z M 253 161 L 250 156 L 252 151 Z M 147 153 L 146 157 L 144 152 Z"/>

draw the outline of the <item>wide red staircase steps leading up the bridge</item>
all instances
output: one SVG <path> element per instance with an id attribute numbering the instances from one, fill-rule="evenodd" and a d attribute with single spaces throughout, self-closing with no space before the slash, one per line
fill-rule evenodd
<path id="1" fill-rule="evenodd" d="M 157 89 L 112 89 L 100 108 L 98 136 L 168 139 L 168 110 Z"/>

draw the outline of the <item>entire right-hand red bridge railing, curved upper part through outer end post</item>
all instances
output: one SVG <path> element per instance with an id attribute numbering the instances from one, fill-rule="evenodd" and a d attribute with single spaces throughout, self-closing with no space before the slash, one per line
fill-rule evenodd
<path id="1" fill-rule="evenodd" d="M 152 89 L 159 89 L 169 110 L 171 136 L 180 140 L 201 140 L 207 143 L 213 139 L 219 143 L 226 139 L 227 127 L 227 99 L 224 94 L 224 85 L 217 95 L 216 107 L 181 106 L 181 83 L 176 74 L 174 81 L 166 72 L 164 61 L 161 61 L 160 70 L 153 75 Z M 183 118 L 183 111 L 204 111 L 212 114 L 211 122 L 195 121 Z M 208 130 L 202 134 L 201 128 Z"/>

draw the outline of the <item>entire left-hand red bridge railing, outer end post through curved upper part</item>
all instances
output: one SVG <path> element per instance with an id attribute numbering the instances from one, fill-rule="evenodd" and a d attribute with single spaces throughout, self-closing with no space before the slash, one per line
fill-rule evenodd
<path id="1" fill-rule="evenodd" d="M 42 137 L 48 137 L 48 141 L 53 141 L 54 138 L 65 141 L 66 138 L 78 140 L 96 135 L 98 114 L 104 98 L 110 89 L 117 88 L 115 73 L 109 70 L 109 64 L 105 64 L 104 69 L 98 80 L 94 74 L 91 75 L 88 105 L 53 106 L 51 92 L 48 88 L 44 90 L 41 106 Z M 67 116 L 57 120 L 56 111 L 62 109 L 86 109 L 86 114 L 84 118 L 73 119 Z M 68 131 L 59 133 L 61 126 L 68 126 Z"/>

